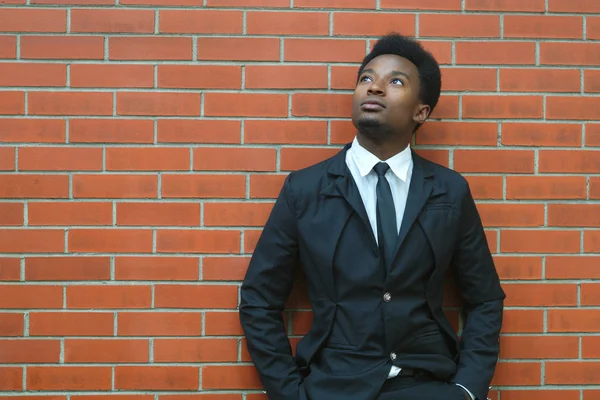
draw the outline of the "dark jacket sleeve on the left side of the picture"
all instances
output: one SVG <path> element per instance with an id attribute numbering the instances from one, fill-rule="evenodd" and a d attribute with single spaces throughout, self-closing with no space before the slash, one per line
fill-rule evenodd
<path id="1" fill-rule="evenodd" d="M 282 318 L 298 264 L 291 175 L 250 260 L 239 307 L 248 350 L 270 400 L 298 399 L 301 383 Z"/>

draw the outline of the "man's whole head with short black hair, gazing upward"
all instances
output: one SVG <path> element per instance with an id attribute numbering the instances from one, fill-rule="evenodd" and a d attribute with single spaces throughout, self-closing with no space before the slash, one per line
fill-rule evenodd
<path id="1" fill-rule="evenodd" d="M 386 35 L 359 68 L 352 122 L 374 141 L 412 135 L 431 115 L 440 90 L 435 58 L 414 39 Z"/>

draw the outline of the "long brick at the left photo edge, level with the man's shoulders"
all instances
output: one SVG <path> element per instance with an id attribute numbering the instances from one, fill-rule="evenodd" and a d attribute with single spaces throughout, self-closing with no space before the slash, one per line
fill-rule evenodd
<path id="1" fill-rule="evenodd" d="M 66 175 L 0 174 L 0 198 L 69 197 L 69 177 Z"/>

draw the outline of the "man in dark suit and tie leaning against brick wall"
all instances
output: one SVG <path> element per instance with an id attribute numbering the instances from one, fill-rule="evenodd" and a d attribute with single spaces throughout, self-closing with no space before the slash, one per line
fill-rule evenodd
<path id="1" fill-rule="evenodd" d="M 241 288 L 269 399 L 486 398 L 505 295 L 466 180 L 410 147 L 440 87 L 420 44 L 383 37 L 359 69 L 354 141 L 286 178 Z M 314 319 L 293 357 L 282 311 L 298 267 Z M 460 341 L 442 311 L 449 272 Z"/>

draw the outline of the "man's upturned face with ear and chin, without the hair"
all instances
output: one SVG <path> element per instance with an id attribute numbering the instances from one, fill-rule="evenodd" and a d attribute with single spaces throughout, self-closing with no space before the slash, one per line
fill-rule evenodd
<path id="1" fill-rule="evenodd" d="M 369 135 L 412 134 L 415 123 L 425 122 L 429 113 L 419 100 L 419 88 L 419 71 L 412 62 L 393 54 L 375 57 L 354 90 L 354 126 Z"/>

